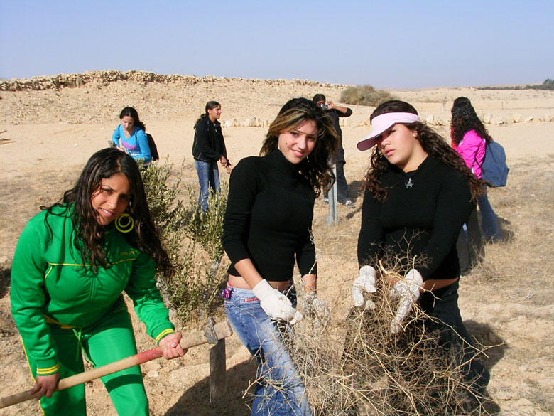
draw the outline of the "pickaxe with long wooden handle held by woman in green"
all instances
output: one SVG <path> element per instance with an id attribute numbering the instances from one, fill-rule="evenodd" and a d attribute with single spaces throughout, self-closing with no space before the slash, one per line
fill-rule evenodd
<path id="1" fill-rule="evenodd" d="M 196 331 L 192 334 L 183 335 L 183 338 L 181 338 L 180 346 L 182 348 L 192 348 L 204 343 L 210 343 L 212 345 L 212 348 L 210 348 L 210 402 L 220 398 L 226 389 L 225 338 L 232 334 L 233 330 L 228 321 L 215 324 L 214 319 L 209 318 L 204 331 Z M 116 371 L 138 366 L 147 361 L 160 358 L 163 356 L 164 348 L 165 347 L 161 346 L 152 348 L 151 350 L 143 351 L 134 356 L 115 361 L 114 363 L 109 363 L 105 366 L 85 371 L 84 373 L 75 374 L 71 377 L 62 378 L 58 383 L 58 390 L 65 390 L 74 385 L 86 383 L 87 381 L 103 377 L 104 375 L 112 374 Z M 6 398 L 1 398 L 0 409 L 36 398 L 36 395 L 31 395 L 30 392 L 31 390 L 27 390 Z"/>

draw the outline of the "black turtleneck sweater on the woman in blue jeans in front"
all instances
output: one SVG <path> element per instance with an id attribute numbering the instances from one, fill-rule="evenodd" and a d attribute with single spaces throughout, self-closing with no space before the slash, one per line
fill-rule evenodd
<path id="1" fill-rule="evenodd" d="M 316 274 L 315 246 L 310 238 L 315 192 L 276 149 L 262 157 L 242 159 L 229 178 L 229 199 L 223 224 L 223 247 L 231 266 L 249 258 L 264 279 Z"/>

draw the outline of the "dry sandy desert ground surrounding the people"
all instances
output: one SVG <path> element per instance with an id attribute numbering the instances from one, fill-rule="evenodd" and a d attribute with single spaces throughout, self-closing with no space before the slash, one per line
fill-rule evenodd
<path id="1" fill-rule="evenodd" d="M 195 183 L 192 169 L 194 123 L 207 100 L 222 103 L 222 122 L 248 117 L 271 119 L 280 105 L 290 97 L 312 97 L 323 92 L 327 100 L 338 102 L 340 87 L 329 85 L 272 85 L 271 82 L 232 80 L 211 82 L 192 87 L 178 85 L 136 85 L 114 82 L 108 86 L 66 88 L 63 90 L 0 92 L 0 386 L 1 395 L 9 395 L 30 388 L 31 378 L 23 356 L 17 330 L 9 312 L 9 272 L 11 258 L 19 233 L 40 205 L 58 200 L 73 181 L 85 161 L 96 150 L 107 146 L 113 129 L 119 122 L 119 110 L 134 105 L 156 139 L 162 157 L 190 169 L 185 171 L 185 183 Z M 448 121 L 455 97 L 472 99 L 477 112 L 496 117 L 521 114 L 535 117 L 532 122 L 488 125 L 491 136 L 506 149 L 512 170 L 509 186 L 491 192 L 491 201 L 501 218 L 501 224 L 515 230 L 516 219 L 525 215 L 529 175 L 541 180 L 551 179 L 554 166 L 554 122 L 536 121 L 544 114 L 554 114 L 554 92 L 546 91 L 490 91 L 472 88 L 441 88 L 436 90 L 393 91 L 397 97 L 411 102 L 423 119 L 432 114 Z M 355 241 L 362 203 L 359 185 L 367 167 L 368 153 L 357 151 L 356 143 L 369 131 L 364 125 L 372 107 L 351 106 L 354 114 L 343 127 L 347 165 L 346 176 L 357 208 L 340 208 L 340 224 L 327 227 L 325 206 L 316 202 L 314 233 L 320 261 L 320 291 L 327 298 L 347 298 L 350 281 L 357 272 Z M 447 137 L 448 127 L 437 127 Z M 224 129 L 229 159 L 239 161 L 244 156 L 257 154 L 264 139 L 263 127 L 228 127 Z M 531 182 L 530 182 L 531 181 Z M 514 184 L 511 188 L 511 184 Z M 539 188 L 540 189 L 540 188 Z M 535 207 L 533 215 L 541 217 L 541 209 L 554 208 L 552 186 L 550 194 L 541 201 L 548 206 Z M 531 198 L 531 197 L 529 197 Z M 514 203 L 514 201 L 521 201 Z M 344 212 L 343 212 L 344 211 Z M 531 213 L 531 211 L 528 211 Z M 551 250 L 554 233 L 551 224 L 542 230 Z M 525 242 L 495 245 L 487 249 L 487 257 L 499 263 L 504 256 L 518 256 L 518 247 Z M 512 250 L 504 252 L 503 250 Z M 533 256 L 527 250 L 526 255 Z M 542 257 L 541 257 L 542 258 Z M 508 263 L 513 258 L 506 260 Z M 526 259 L 530 264 L 532 258 Z M 548 260 L 538 269 L 541 275 L 553 272 Z M 496 264 L 495 263 L 495 264 Z M 506 263 L 506 262 L 504 262 Z M 491 263 L 492 264 L 492 263 Z M 491 270 L 485 268 L 484 272 Z M 502 272 L 501 272 L 502 273 Z M 347 275 L 345 275 L 347 274 Z M 512 276 L 513 277 L 513 276 Z M 513 277 L 514 280 L 516 277 Z M 551 280 L 545 284 L 552 285 Z M 472 290 L 475 286 L 479 291 Z M 508 285 L 509 286 L 509 285 Z M 502 415 L 549 415 L 554 412 L 554 347 L 550 339 L 554 307 L 552 297 L 536 296 L 528 302 L 530 287 L 503 292 L 496 279 L 482 279 L 472 273 L 462 281 L 460 308 L 469 328 L 487 336 L 490 344 L 504 346 L 491 350 L 486 361 L 491 368 L 489 393 Z M 346 288 L 346 289 L 345 289 Z M 535 290 L 535 289 L 533 289 Z M 533 292 L 536 293 L 536 292 Z M 551 291 L 547 292 L 553 294 Z M 531 294 L 533 297 L 533 294 Z M 486 302 L 485 302 L 486 299 Z M 537 300 L 538 299 L 538 300 Z M 139 348 L 152 348 L 153 342 L 137 324 Z M 228 397 L 217 404 L 207 402 L 207 348 L 191 350 L 185 358 L 171 362 L 156 361 L 143 366 L 145 383 L 151 399 L 153 415 L 249 415 L 246 399 L 242 398 L 249 380 L 254 377 L 254 366 L 249 362 L 246 348 L 233 336 L 227 343 Z M 543 395 L 541 395 L 543 392 Z M 89 415 L 114 415 L 115 412 L 101 383 L 87 385 Z M 34 403 L 25 403 L 0 410 L 1 415 L 38 415 Z"/>

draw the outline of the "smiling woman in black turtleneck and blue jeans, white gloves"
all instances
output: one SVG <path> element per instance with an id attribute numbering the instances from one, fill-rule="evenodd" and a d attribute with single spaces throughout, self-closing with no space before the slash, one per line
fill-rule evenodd
<path id="1" fill-rule="evenodd" d="M 329 160 L 337 143 L 330 117 L 314 102 L 295 98 L 269 126 L 260 156 L 242 159 L 229 179 L 225 311 L 259 361 L 252 415 L 310 415 L 275 323 L 295 317 L 295 299 L 286 296 L 295 262 L 307 307 L 325 309 L 315 294 L 311 226 L 315 197 L 334 180 Z"/>

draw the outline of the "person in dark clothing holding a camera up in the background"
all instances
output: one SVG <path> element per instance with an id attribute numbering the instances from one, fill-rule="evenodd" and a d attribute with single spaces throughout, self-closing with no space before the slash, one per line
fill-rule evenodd
<path id="1" fill-rule="evenodd" d="M 339 117 L 350 117 L 352 115 L 352 110 L 348 107 L 335 105 L 332 101 L 326 102 L 325 95 L 322 94 L 314 95 L 312 100 L 325 111 L 325 114 L 332 118 L 335 131 L 339 136 L 339 146 L 333 155 L 333 162 L 335 166 L 337 166 L 337 201 L 348 208 L 354 208 L 354 203 L 350 201 L 348 196 L 348 183 L 344 176 L 344 164 L 346 164 L 346 160 L 344 160 L 344 148 L 342 147 L 342 129 L 340 129 L 339 125 Z M 325 193 L 323 202 L 329 203 L 327 193 Z"/>

